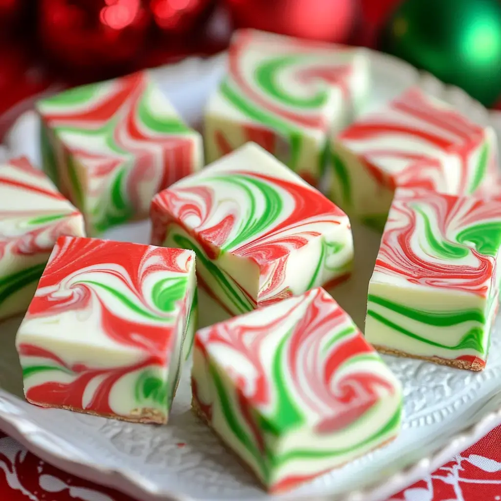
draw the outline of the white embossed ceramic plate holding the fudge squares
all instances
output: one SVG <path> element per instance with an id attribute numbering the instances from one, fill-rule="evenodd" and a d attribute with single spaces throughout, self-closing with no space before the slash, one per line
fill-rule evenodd
<path id="1" fill-rule="evenodd" d="M 471 119 L 501 130 L 499 114 L 456 88 L 420 75 L 397 59 L 370 53 L 372 98 L 368 107 L 388 100 L 409 85 L 457 106 Z M 191 124 L 199 124 L 203 103 L 224 71 L 225 58 L 191 59 L 153 71 L 162 89 Z M 8 154 L 38 161 L 33 113 L 21 117 L 9 134 Z M 6 151 L 4 150 L 4 153 Z M 0 151 L 0 154 L 2 151 Z M 335 296 L 363 326 L 367 284 L 378 235 L 355 227 L 353 279 Z M 147 222 L 115 228 L 108 238 L 147 242 Z M 0 427 L 42 458 L 72 473 L 119 488 L 141 499 L 265 499 L 241 468 L 190 412 L 186 367 L 168 426 L 129 424 L 58 409 L 42 409 L 22 399 L 22 380 L 14 337 L 20 319 L 0 324 Z M 282 496 L 285 499 L 376 501 L 418 480 L 501 422 L 501 319 L 492 336 L 486 369 L 471 373 L 417 360 L 385 357 L 403 383 L 405 418 L 400 436 L 341 469 Z"/>

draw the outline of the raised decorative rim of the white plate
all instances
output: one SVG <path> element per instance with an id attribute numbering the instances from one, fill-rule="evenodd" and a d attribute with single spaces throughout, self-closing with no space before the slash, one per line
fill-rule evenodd
<path id="1" fill-rule="evenodd" d="M 475 118 L 480 121 L 489 121 L 496 129 L 501 129 L 501 113 L 487 112 L 479 103 L 473 101 L 462 90 L 445 86 L 429 74 L 419 73 L 409 64 L 398 60 L 392 56 L 368 51 L 372 64 L 383 64 L 392 68 L 392 71 L 407 76 L 417 85 L 425 88 L 428 92 L 444 96 L 452 102 L 467 103 L 469 109 L 475 113 Z M 202 60 L 200 58 L 189 58 L 174 66 L 153 70 L 153 74 L 158 79 L 168 76 L 175 83 L 186 79 L 203 78 L 207 68 L 220 65 L 224 55 L 217 55 L 213 58 Z M 16 150 L 13 144 L 13 135 L 7 138 L 7 146 L 11 151 Z M 501 392 L 501 388 L 499 390 Z M 93 458 L 83 449 L 76 449 L 72 444 L 59 438 L 54 432 L 39 426 L 30 419 L 26 407 L 18 397 L 0 389 L 0 428 L 11 435 L 16 440 L 23 443 L 28 449 L 38 454 L 44 460 L 52 462 L 61 469 L 65 469 L 79 476 L 87 477 L 101 484 L 110 485 L 126 491 L 129 494 L 150 499 L 166 499 L 168 501 L 189 501 L 190 497 L 172 491 L 162 490 L 144 475 L 137 474 L 129 468 L 102 467 L 96 465 Z M 26 407 L 26 408 L 25 408 Z M 449 443 L 433 454 L 429 454 L 415 461 L 412 465 L 401 469 L 389 477 L 374 482 L 367 488 L 352 491 L 348 496 L 344 496 L 347 501 L 376 501 L 385 499 L 391 494 L 406 487 L 412 482 L 420 479 L 433 469 L 441 466 L 453 455 L 461 452 L 464 448 L 480 439 L 485 433 L 501 423 L 501 407 L 483 415 L 476 423 L 465 427 L 461 432 L 451 437 Z M 311 497 L 318 501 L 327 501 L 339 498 L 337 495 L 321 495 Z M 282 499 L 304 499 L 298 496 L 288 495 Z"/>

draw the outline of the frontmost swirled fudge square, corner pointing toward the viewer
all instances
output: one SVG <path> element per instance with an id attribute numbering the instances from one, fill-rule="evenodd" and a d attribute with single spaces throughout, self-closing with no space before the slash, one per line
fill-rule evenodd
<path id="1" fill-rule="evenodd" d="M 399 381 L 321 288 L 198 331 L 192 406 L 271 492 L 393 439 Z"/>

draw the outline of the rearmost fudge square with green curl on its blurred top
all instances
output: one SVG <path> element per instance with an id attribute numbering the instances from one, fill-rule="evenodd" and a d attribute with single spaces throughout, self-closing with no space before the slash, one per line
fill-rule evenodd
<path id="1" fill-rule="evenodd" d="M 254 141 L 315 185 L 329 130 L 347 125 L 368 94 L 367 55 L 246 29 L 228 59 L 205 109 L 207 162 Z"/>

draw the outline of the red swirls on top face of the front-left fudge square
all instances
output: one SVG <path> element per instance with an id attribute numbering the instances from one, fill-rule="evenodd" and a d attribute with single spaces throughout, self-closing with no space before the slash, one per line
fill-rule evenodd
<path id="1" fill-rule="evenodd" d="M 30 304 L 27 318 L 44 317 L 65 311 L 85 311 L 93 295 L 91 286 L 78 282 L 63 297 L 53 294 L 61 282 L 69 276 L 78 276 L 87 267 L 103 265 L 102 271 L 122 281 L 145 310 L 149 309 L 150 298 L 144 297 L 143 284 L 151 274 L 169 270 L 186 273 L 191 256 L 184 266 L 177 258 L 186 251 L 165 249 L 128 242 L 112 242 L 91 238 L 60 237 L 51 260 L 42 276 L 38 292 Z M 146 265 L 146 260 L 148 264 Z M 124 272 L 106 268 L 107 264 L 120 266 Z M 83 271 L 85 274 L 85 270 Z M 171 337 L 176 335 L 175 323 L 152 325 L 140 323 L 113 313 L 107 305 L 100 303 L 101 327 L 111 339 L 122 345 L 140 348 L 166 360 Z M 159 314 L 160 315 L 160 314 Z M 167 316 L 167 314 L 166 314 Z"/>

